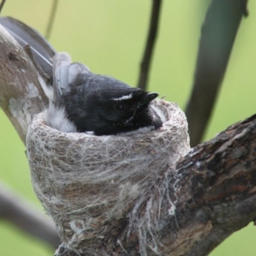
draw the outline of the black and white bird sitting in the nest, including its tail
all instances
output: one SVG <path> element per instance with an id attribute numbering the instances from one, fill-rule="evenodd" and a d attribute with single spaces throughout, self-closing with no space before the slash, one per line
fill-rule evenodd
<path id="1" fill-rule="evenodd" d="M 157 93 L 132 88 L 112 77 L 93 74 L 81 63 L 72 63 L 66 52 L 56 53 L 35 29 L 1 17 L 20 45 L 30 45 L 36 61 L 52 83 L 41 83 L 49 98 L 47 125 L 62 132 L 92 135 L 136 134 L 159 129 L 163 113 L 151 103 Z"/>

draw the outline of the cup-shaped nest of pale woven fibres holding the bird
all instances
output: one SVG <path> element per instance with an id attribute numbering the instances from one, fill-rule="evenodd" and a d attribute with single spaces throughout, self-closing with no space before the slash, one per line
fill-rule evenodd
<path id="1" fill-rule="evenodd" d="M 152 104 L 167 121 L 146 134 L 63 133 L 45 125 L 43 113 L 30 125 L 26 143 L 33 187 L 70 250 L 93 252 L 104 248 L 104 239 L 120 244 L 136 233 L 141 255 L 148 249 L 160 254 L 157 230 L 166 214 L 175 212 L 168 177 L 188 152 L 189 136 L 177 104 Z M 118 232 L 123 240 L 114 236 Z"/>

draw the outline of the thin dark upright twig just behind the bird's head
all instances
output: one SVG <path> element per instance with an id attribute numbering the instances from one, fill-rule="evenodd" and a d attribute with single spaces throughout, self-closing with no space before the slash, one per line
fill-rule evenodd
<path id="1" fill-rule="evenodd" d="M 145 47 L 145 52 L 140 65 L 140 77 L 138 81 L 138 88 L 145 90 L 147 88 L 148 70 L 150 68 L 150 61 L 152 60 L 152 53 L 156 42 L 157 28 L 159 24 L 159 16 L 161 10 L 161 0 L 152 0 L 152 12 L 150 18 L 150 28 L 148 30 L 148 38 Z"/>

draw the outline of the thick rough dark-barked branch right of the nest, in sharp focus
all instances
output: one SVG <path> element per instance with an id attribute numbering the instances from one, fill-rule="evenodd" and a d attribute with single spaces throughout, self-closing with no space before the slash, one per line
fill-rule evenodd
<path id="1" fill-rule="evenodd" d="M 255 220 L 255 148 L 256 115 L 193 148 L 177 164 L 173 179 L 179 190 L 170 184 L 171 200 L 178 198 L 176 214 L 161 231 L 163 241 L 172 243 L 168 253 L 179 247 L 173 232 L 186 241 L 186 255 L 207 255 Z"/>

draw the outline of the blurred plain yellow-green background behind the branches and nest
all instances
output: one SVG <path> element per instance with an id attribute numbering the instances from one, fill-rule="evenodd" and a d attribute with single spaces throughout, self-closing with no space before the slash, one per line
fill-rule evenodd
<path id="1" fill-rule="evenodd" d="M 136 85 L 151 1 L 59 1 L 51 44 L 67 51 L 99 74 Z M 168 0 L 161 12 L 161 26 L 150 72 L 149 91 L 184 109 L 193 81 L 200 27 L 209 1 Z M 50 0 L 7 0 L 2 15 L 20 19 L 45 33 Z M 253 115 L 256 96 L 256 1 L 248 3 L 250 15 L 237 34 L 227 73 L 216 102 L 205 140 L 239 120 Z M 26 196 L 43 212 L 29 177 L 29 167 L 17 133 L 0 109 L 0 179 Z M 256 229 L 249 225 L 233 234 L 211 256 L 255 256 Z M 15 246 L 14 246 L 15 245 Z M 0 255 L 53 255 L 54 250 L 0 220 Z"/>

